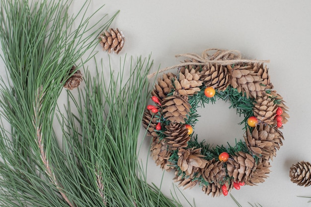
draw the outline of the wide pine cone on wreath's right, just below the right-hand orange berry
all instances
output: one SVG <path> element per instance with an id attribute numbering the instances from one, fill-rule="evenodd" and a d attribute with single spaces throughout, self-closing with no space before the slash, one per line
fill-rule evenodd
<path id="1" fill-rule="evenodd" d="M 246 137 L 244 137 L 247 148 L 256 156 L 268 160 L 273 160 L 276 156 L 277 149 L 283 144 L 283 135 L 279 130 L 270 127 L 269 125 L 260 124 L 255 127 L 250 133 L 246 130 Z"/>

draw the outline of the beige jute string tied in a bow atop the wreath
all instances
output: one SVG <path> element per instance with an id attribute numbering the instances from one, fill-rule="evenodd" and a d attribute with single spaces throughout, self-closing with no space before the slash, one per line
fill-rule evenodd
<path id="1" fill-rule="evenodd" d="M 211 51 L 216 51 L 212 55 L 209 54 Z M 189 59 L 189 62 L 181 63 L 175 66 L 167 67 L 164 69 L 160 69 L 157 72 L 149 74 L 147 77 L 152 78 L 154 77 L 157 73 L 161 73 L 170 69 L 175 69 L 175 68 L 180 68 L 183 66 L 200 66 L 200 65 L 213 65 L 213 64 L 218 64 L 218 65 L 232 65 L 236 63 L 270 63 L 269 60 L 246 60 L 246 59 L 241 59 L 241 53 L 237 50 L 220 50 L 216 48 L 210 48 L 205 51 L 203 51 L 202 56 L 199 56 L 194 53 L 186 53 L 186 54 L 180 54 L 180 55 L 175 55 L 176 58 L 179 57 L 184 57 L 186 59 Z"/>

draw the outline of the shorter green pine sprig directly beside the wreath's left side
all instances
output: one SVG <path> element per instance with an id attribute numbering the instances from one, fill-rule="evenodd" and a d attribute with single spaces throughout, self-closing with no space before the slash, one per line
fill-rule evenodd
<path id="1" fill-rule="evenodd" d="M 150 93 L 147 75 L 151 66 L 150 57 L 131 59 L 129 66 L 124 59 L 119 73 L 114 74 L 110 68 L 109 84 L 105 84 L 98 70 L 94 78 L 85 71 L 85 88 L 78 90 L 77 98 L 69 93 L 68 119 L 64 125 L 68 132 L 66 145 L 72 147 L 70 154 L 76 156 L 72 162 L 79 161 L 80 174 L 88 179 L 81 191 L 94 198 L 91 206 L 102 206 L 103 202 L 108 207 L 181 206 L 164 197 L 155 186 L 148 185 L 146 173 L 137 161 L 141 120 Z M 123 72 L 127 68 L 130 77 L 125 79 Z M 97 193 L 98 189 L 101 193 Z"/>

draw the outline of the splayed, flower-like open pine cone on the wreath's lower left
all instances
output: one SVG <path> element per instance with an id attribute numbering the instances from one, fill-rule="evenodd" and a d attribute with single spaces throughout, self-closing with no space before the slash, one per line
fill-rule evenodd
<path id="1" fill-rule="evenodd" d="M 179 149 L 177 155 L 177 165 L 181 171 L 186 172 L 186 175 L 192 173 L 193 167 L 204 168 L 208 162 L 202 158 L 205 156 L 201 154 L 201 148 Z"/>

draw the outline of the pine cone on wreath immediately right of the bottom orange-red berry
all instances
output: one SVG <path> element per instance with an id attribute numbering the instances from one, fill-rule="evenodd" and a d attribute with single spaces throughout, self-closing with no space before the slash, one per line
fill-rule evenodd
<path id="1" fill-rule="evenodd" d="M 252 176 L 256 162 L 252 155 L 238 151 L 233 159 L 227 161 L 228 175 L 233 176 L 234 182 L 244 182 Z"/>

